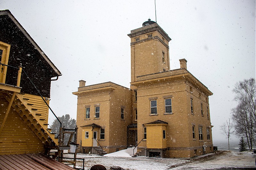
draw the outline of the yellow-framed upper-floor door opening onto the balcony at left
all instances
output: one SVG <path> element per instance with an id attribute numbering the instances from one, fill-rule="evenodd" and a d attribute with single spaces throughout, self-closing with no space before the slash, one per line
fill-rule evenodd
<path id="1" fill-rule="evenodd" d="M 10 52 L 10 45 L 0 41 L 0 62 L 8 64 L 8 57 Z M 7 66 L 0 64 L 0 83 L 5 83 Z"/>

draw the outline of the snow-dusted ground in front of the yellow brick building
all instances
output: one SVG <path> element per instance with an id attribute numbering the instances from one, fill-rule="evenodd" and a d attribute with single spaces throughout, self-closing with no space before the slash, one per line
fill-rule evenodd
<path id="1" fill-rule="evenodd" d="M 144 170 L 144 169 L 216 169 L 227 167 L 254 167 L 255 154 L 252 152 L 233 152 L 224 151 L 217 155 L 206 154 L 191 159 L 167 159 L 167 158 L 149 158 L 149 157 L 130 157 L 131 150 L 122 150 L 99 156 L 93 154 L 77 154 L 77 158 L 85 159 L 85 169 L 90 169 L 93 165 L 101 164 L 107 169 L 111 166 L 120 166 L 126 170 Z M 207 156 L 208 157 L 205 157 Z M 65 157 L 72 158 L 72 154 L 64 154 Z M 210 157 L 209 157 L 210 156 Z M 204 157 L 204 159 L 203 159 Z M 83 162 L 78 161 L 77 167 L 82 167 Z"/>

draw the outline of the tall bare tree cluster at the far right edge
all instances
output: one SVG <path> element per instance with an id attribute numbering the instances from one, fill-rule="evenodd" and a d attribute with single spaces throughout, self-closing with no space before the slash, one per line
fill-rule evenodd
<path id="1" fill-rule="evenodd" d="M 256 84 L 255 79 L 245 79 L 236 83 L 233 92 L 238 105 L 232 109 L 236 135 L 245 137 L 249 149 L 256 143 Z"/>

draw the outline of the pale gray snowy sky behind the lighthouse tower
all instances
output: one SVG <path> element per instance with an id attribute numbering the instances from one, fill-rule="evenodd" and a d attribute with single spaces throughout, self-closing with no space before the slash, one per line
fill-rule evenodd
<path id="1" fill-rule="evenodd" d="M 188 60 L 188 71 L 209 97 L 213 143 L 230 116 L 236 82 L 255 78 L 255 0 L 245 1 L 32 1 L 0 0 L 63 74 L 51 86 L 57 116 L 76 118 L 79 80 L 130 87 L 131 30 L 148 18 L 172 38 L 171 70 Z M 52 114 L 50 114 L 52 115 Z M 49 117 L 49 122 L 54 120 Z M 235 137 L 232 137 L 235 139 Z"/>

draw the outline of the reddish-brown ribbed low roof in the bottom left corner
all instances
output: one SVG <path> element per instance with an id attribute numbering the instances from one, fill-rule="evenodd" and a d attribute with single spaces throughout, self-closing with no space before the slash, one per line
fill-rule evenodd
<path id="1" fill-rule="evenodd" d="M 0 155 L 0 169 L 2 170 L 73 170 L 42 153 L 16 154 L 16 155 Z"/>

